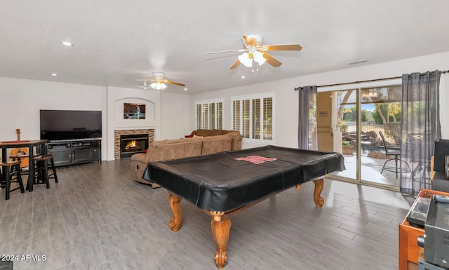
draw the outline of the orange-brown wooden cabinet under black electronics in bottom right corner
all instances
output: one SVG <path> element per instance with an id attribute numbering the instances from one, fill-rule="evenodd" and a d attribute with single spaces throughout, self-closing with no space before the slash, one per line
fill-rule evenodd
<path id="1" fill-rule="evenodd" d="M 422 189 L 417 198 L 431 198 L 435 194 L 449 196 L 449 193 Z M 417 237 L 424 236 L 424 228 L 410 225 L 407 217 L 399 224 L 399 270 L 418 269 L 418 258 L 421 248 L 417 245 Z"/>

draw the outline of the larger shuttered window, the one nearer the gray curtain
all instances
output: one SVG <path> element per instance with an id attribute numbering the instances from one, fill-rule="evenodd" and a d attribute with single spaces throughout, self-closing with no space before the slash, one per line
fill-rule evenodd
<path id="1" fill-rule="evenodd" d="M 232 97 L 232 129 L 256 142 L 274 140 L 274 93 Z"/>

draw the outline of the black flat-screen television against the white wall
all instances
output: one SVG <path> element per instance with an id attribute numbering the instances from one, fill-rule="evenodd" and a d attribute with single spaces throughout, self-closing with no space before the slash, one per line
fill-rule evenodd
<path id="1" fill-rule="evenodd" d="M 101 137 L 101 111 L 41 109 L 41 140 L 80 140 Z"/>

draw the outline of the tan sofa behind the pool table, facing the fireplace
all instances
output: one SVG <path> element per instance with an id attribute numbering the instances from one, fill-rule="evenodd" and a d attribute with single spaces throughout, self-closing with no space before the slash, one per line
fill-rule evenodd
<path id="1" fill-rule="evenodd" d="M 198 130 L 194 130 L 196 132 Z M 228 130 L 224 130 L 228 131 Z M 194 137 L 179 140 L 161 140 L 149 144 L 147 153 L 133 154 L 131 156 L 131 173 L 133 180 L 145 184 L 151 184 L 153 188 L 159 184 L 142 179 L 142 175 L 148 163 L 154 161 L 168 161 L 190 156 L 202 156 L 222 151 L 234 151 L 241 149 L 241 135 L 238 131 L 223 133 L 221 135 L 206 135 L 202 132 L 194 133 Z"/>

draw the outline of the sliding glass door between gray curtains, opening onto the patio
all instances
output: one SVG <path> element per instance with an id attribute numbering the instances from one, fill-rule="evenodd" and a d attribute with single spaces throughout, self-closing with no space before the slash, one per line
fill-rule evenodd
<path id="1" fill-rule="evenodd" d="M 396 151 L 401 145 L 401 86 L 338 90 L 333 95 L 337 97 L 335 116 L 347 168 L 333 175 L 340 180 L 397 189 L 401 168 L 406 164 L 401 164 L 400 156 L 387 153 L 386 145 Z"/>

